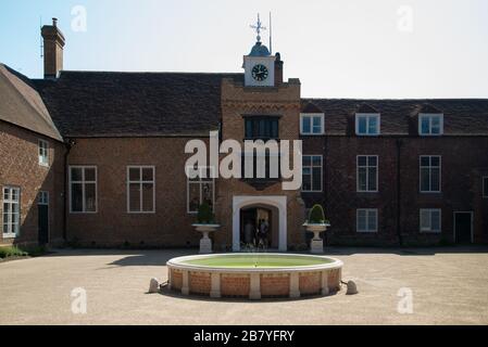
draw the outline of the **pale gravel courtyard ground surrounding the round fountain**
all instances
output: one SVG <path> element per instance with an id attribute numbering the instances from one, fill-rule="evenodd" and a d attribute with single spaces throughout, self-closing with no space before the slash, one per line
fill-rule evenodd
<path id="1" fill-rule="evenodd" d="M 331 248 L 345 262 L 346 288 L 299 300 L 214 300 L 163 291 L 147 294 L 165 262 L 195 250 L 60 249 L 0 262 L 2 324 L 488 324 L 488 248 Z M 72 312 L 72 291 L 87 312 Z M 399 313 L 400 294 L 413 311 Z M 404 303 L 404 299 L 401 301 Z M 401 306 L 405 307 L 405 306 Z"/>

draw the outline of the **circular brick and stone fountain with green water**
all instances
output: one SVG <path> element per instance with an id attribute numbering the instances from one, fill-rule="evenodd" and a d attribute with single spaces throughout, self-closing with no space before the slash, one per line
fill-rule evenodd
<path id="1" fill-rule="evenodd" d="M 342 261 L 301 254 L 213 254 L 167 261 L 168 285 L 184 295 L 298 298 L 340 290 Z"/>

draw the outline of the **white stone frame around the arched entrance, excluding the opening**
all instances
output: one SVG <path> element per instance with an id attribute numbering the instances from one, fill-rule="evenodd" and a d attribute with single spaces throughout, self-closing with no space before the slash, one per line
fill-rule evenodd
<path id="1" fill-rule="evenodd" d="M 287 198 L 284 195 L 246 195 L 233 197 L 233 250 L 240 250 L 240 210 L 252 205 L 270 205 L 278 209 L 278 249 L 287 252 Z"/>

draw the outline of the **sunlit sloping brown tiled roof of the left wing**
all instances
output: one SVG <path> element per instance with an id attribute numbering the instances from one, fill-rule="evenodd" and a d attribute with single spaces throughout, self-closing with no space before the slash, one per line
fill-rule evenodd
<path id="1" fill-rule="evenodd" d="M 30 80 L 0 64 L 0 119 L 62 141 Z"/>

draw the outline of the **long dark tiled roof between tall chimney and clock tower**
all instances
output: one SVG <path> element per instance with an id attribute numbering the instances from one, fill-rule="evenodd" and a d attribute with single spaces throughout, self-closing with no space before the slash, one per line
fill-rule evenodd
<path id="1" fill-rule="evenodd" d="M 198 136 L 218 128 L 223 78 L 243 75 L 62 72 L 34 83 L 65 137 Z"/>

